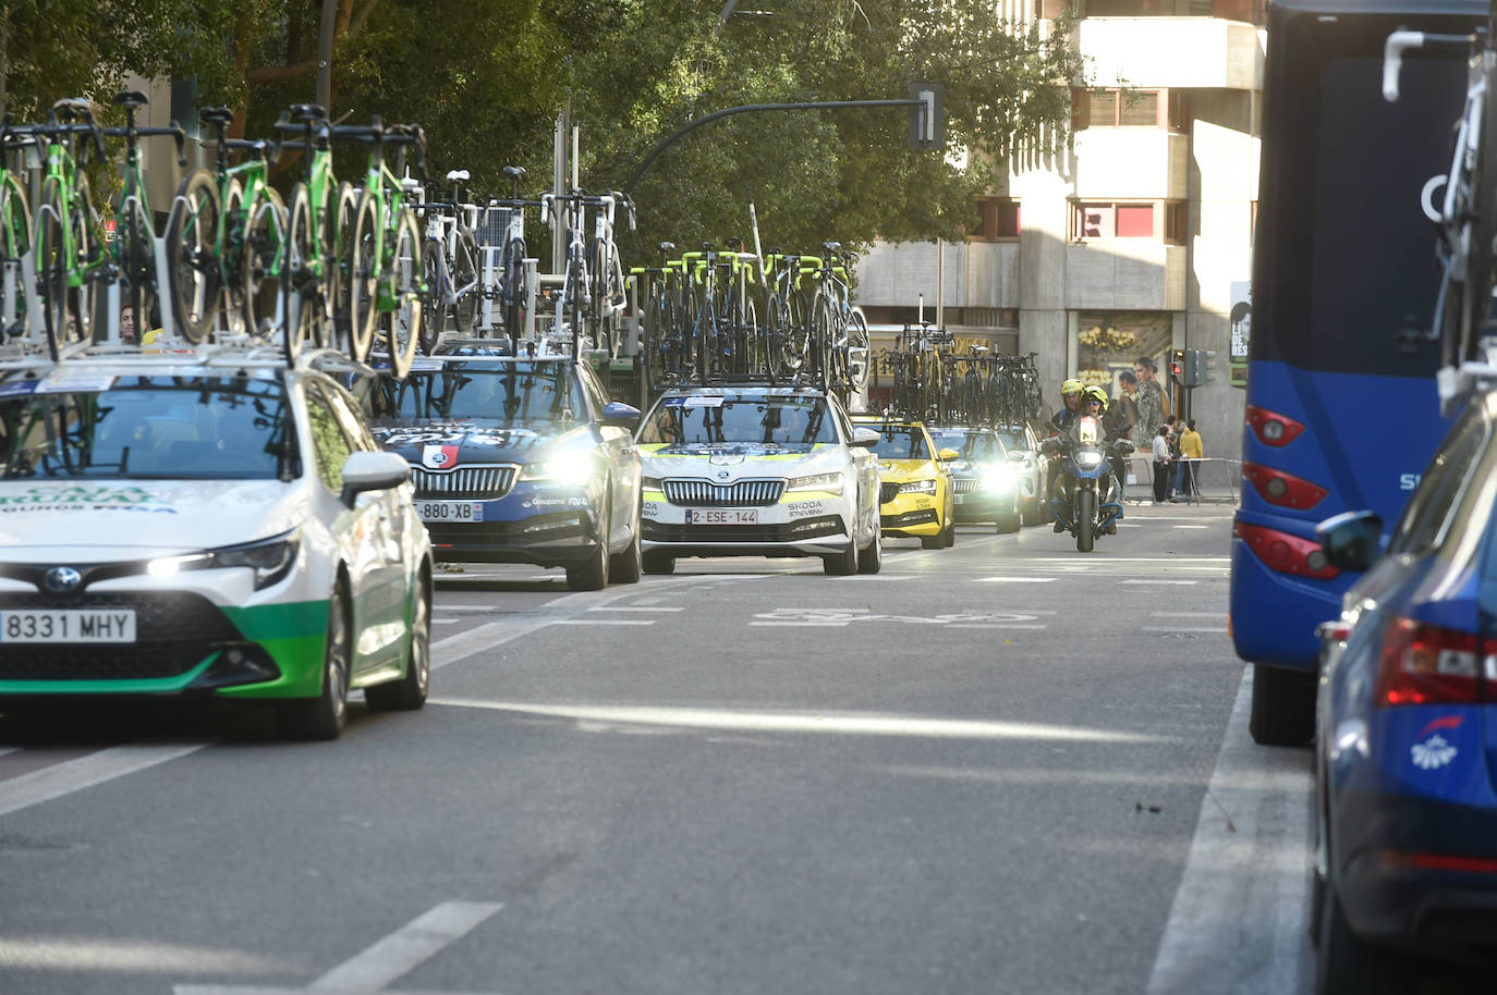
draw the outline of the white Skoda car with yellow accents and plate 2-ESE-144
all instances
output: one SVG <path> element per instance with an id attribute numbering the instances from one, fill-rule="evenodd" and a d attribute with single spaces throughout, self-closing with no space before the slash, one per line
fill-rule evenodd
<path id="1" fill-rule="evenodd" d="M 826 573 L 877 573 L 877 440 L 822 391 L 668 391 L 636 435 L 645 573 L 678 557 L 820 557 Z"/>

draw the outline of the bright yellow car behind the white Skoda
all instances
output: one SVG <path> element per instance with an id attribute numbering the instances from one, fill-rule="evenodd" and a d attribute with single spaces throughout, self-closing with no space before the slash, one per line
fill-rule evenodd
<path id="1" fill-rule="evenodd" d="M 957 498 L 948 459 L 955 449 L 936 450 L 921 422 L 855 416 L 853 425 L 879 432 L 873 446 L 879 462 L 879 524 L 885 536 L 919 539 L 924 549 L 957 542 Z"/>

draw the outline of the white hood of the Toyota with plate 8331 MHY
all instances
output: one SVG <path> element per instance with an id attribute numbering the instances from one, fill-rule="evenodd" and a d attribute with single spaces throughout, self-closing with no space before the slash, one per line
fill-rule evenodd
<path id="1" fill-rule="evenodd" d="M 278 536 L 305 504 L 280 480 L 0 480 L 0 546 L 12 560 L 192 552 Z"/>

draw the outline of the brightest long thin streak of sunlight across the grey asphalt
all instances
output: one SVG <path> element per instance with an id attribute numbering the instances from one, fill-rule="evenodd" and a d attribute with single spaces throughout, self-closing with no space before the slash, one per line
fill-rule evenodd
<path id="1" fill-rule="evenodd" d="M 584 723 L 624 723 L 639 726 L 677 726 L 684 729 L 735 729 L 751 732 L 838 733 L 862 736 L 925 736 L 934 739 L 1043 739 L 1064 742 L 1169 744 L 1169 736 L 1049 726 L 1045 723 L 1003 723 L 988 720 L 934 718 L 928 715 L 889 715 L 886 712 L 746 712 L 737 709 L 629 706 L 629 705 L 542 705 L 533 702 L 487 702 L 479 699 L 433 697 L 428 705 L 484 708 L 499 712 L 551 715 Z"/>

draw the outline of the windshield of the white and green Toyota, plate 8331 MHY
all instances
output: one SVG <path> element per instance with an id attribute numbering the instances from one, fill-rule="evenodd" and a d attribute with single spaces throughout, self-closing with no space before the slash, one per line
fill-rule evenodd
<path id="1" fill-rule="evenodd" d="M 295 455 L 280 380 L 103 377 L 0 385 L 6 479 L 272 480 Z M 58 383 L 57 386 L 64 386 Z"/>

